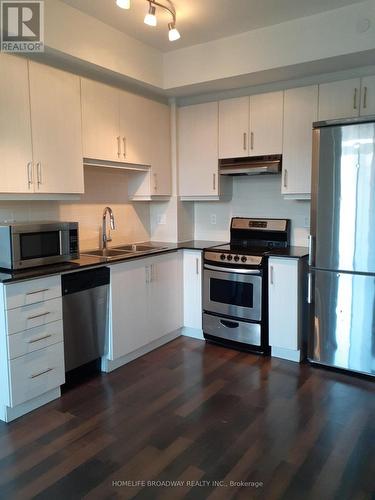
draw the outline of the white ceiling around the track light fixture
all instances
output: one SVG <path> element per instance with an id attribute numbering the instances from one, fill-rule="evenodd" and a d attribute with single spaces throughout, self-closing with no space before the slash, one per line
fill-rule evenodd
<path id="1" fill-rule="evenodd" d="M 173 43 L 168 40 L 167 13 L 159 9 L 156 28 L 143 23 L 148 9 L 147 0 L 131 0 L 130 10 L 120 9 L 115 0 L 62 1 L 141 42 L 167 52 L 362 0 L 174 0 L 181 39 Z"/>

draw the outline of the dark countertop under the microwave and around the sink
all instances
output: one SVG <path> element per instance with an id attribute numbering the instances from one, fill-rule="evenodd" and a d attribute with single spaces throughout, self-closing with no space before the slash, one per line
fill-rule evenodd
<path id="1" fill-rule="evenodd" d="M 144 259 L 147 257 L 152 257 L 154 255 L 160 255 L 168 252 L 176 252 L 178 250 L 203 250 L 204 248 L 209 248 L 216 245 L 221 245 L 223 242 L 220 241 L 202 241 L 202 240 L 191 240 L 180 243 L 168 243 L 159 241 L 147 241 L 142 242 L 146 245 L 153 245 L 155 247 L 163 247 L 160 251 L 153 251 L 151 253 L 140 253 L 140 254 L 129 254 L 124 255 L 120 259 L 106 261 L 101 257 L 95 257 L 90 255 L 85 255 L 85 252 L 81 253 L 79 259 L 64 262 L 62 264 L 52 264 L 49 266 L 33 267 L 30 269 L 22 269 L 18 271 L 9 271 L 7 269 L 0 268 L 0 283 L 13 283 L 16 281 L 24 281 L 34 278 L 43 278 L 45 276 L 52 276 L 55 274 L 64 274 L 73 271 L 79 271 L 81 269 L 87 269 L 96 266 L 108 266 L 118 264 L 120 262 L 125 262 L 134 259 Z M 117 245 L 119 246 L 119 245 Z M 115 247 L 114 247 L 115 248 Z"/>

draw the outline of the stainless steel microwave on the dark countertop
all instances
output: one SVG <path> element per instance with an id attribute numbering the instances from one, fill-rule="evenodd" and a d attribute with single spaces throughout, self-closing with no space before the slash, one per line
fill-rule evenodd
<path id="1" fill-rule="evenodd" d="M 78 257 L 78 222 L 0 223 L 0 267 L 25 269 Z"/>

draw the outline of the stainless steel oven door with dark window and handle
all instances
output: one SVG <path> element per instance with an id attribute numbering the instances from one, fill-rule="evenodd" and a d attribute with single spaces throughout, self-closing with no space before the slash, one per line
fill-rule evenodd
<path id="1" fill-rule="evenodd" d="M 235 318 L 261 321 L 262 273 L 204 265 L 203 308 Z"/>

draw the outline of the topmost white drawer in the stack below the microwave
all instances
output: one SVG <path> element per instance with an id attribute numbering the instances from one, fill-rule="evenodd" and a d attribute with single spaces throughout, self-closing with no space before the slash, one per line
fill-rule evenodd
<path id="1" fill-rule="evenodd" d="M 6 285 L 5 309 L 36 304 L 61 296 L 60 276 L 49 276 L 37 280 L 22 281 Z"/>

